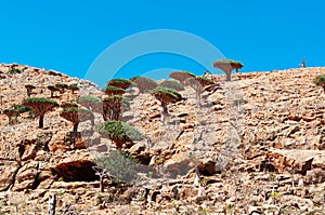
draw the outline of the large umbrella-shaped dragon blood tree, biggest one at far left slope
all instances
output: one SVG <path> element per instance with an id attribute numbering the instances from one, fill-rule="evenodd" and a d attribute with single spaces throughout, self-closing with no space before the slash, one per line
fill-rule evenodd
<path id="1" fill-rule="evenodd" d="M 28 107 L 34 115 L 39 116 L 38 126 L 43 127 L 44 115 L 48 111 L 52 111 L 55 107 L 58 107 L 56 100 L 44 98 L 44 97 L 29 97 L 23 100 L 23 106 Z"/>

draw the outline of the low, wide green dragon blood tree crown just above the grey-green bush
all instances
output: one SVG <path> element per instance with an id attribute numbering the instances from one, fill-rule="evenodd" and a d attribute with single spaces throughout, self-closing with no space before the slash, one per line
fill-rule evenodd
<path id="1" fill-rule="evenodd" d="M 114 142 L 117 149 L 121 149 L 123 144 L 132 145 L 133 142 L 144 139 L 144 135 L 141 132 L 121 121 L 103 122 L 95 126 L 95 131 Z"/>

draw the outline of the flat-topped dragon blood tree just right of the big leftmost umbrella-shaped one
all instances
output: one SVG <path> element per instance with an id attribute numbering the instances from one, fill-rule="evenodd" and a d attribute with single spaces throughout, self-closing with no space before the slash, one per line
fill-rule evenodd
<path id="1" fill-rule="evenodd" d="M 80 122 L 90 120 L 91 125 L 94 126 L 94 115 L 86 108 L 63 108 L 60 116 L 74 124 L 74 136 L 78 135 L 78 125 Z"/>

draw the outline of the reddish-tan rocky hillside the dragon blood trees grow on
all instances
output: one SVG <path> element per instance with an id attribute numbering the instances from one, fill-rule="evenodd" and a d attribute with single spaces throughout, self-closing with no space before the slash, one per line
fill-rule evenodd
<path id="1" fill-rule="evenodd" d="M 43 129 L 27 112 L 15 123 L 0 115 L 0 214 L 48 214 L 53 193 L 56 214 L 66 215 L 324 214 L 325 94 L 313 83 L 325 68 L 242 73 L 231 82 L 209 76 L 216 89 L 203 93 L 202 106 L 186 86 L 165 123 L 154 96 L 127 93 L 122 121 L 145 139 L 125 150 L 146 171 L 126 182 L 105 178 L 104 192 L 92 166 L 115 145 L 90 122 L 80 123 L 73 143 L 60 108 L 46 115 Z M 2 64 L 1 111 L 27 98 L 25 84 L 36 86 L 31 96 L 50 97 L 47 86 L 55 83 L 80 88 L 56 92 L 58 104 L 102 96 L 89 81 Z"/>

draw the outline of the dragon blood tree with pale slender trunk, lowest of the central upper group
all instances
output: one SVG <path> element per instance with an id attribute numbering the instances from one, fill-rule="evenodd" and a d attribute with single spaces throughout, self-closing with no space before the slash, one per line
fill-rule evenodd
<path id="1" fill-rule="evenodd" d="M 165 116 L 168 115 L 168 104 L 176 103 L 182 99 L 182 95 L 171 89 L 156 88 L 150 93 L 155 96 L 161 104 L 161 122 L 164 122 Z"/>

